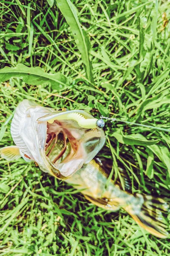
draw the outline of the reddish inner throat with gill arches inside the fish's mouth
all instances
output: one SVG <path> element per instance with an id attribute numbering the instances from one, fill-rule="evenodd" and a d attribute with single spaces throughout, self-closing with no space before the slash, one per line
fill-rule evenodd
<path id="1" fill-rule="evenodd" d="M 73 127 L 71 128 L 72 132 L 69 131 L 68 126 L 73 126 L 73 124 L 69 125 L 68 123 L 65 122 L 63 125 L 62 122 L 54 121 L 52 124 L 47 124 L 45 154 L 50 163 L 58 168 L 71 160 L 76 161 L 77 164 L 81 163 L 85 154 L 79 133 L 76 133 Z"/>

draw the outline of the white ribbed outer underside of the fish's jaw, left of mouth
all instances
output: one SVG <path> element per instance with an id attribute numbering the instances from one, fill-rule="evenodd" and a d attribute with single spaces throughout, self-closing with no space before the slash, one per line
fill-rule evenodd
<path id="1" fill-rule="evenodd" d="M 11 122 L 11 136 L 22 157 L 26 156 L 36 162 L 44 172 L 50 172 L 50 165 L 44 162 L 40 154 L 45 148 L 47 123 L 37 122 L 37 118 L 49 111 L 25 99 L 17 106 Z"/>

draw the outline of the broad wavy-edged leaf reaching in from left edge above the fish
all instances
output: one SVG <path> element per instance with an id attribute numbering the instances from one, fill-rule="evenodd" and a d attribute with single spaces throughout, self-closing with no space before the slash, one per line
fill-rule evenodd
<path id="1" fill-rule="evenodd" d="M 51 84 L 51 87 L 57 91 L 70 87 L 69 80 L 61 73 L 48 74 L 40 67 L 26 67 L 23 64 L 18 64 L 14 68 L 5 67 L 0 70 L 0 83 L 11 78 L 20 78 L 31 85 Z"/>

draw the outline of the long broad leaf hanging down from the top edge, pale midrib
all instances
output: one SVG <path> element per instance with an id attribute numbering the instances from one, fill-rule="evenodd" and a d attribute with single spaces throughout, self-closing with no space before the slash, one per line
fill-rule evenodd
<path id="1" fill-rule="evenodd" d="M 86 76 L 89 81 L 93 82 L 92 65 L 89 60 L 91 45 L 87 33 L 81 28 L 79 23 L 77 9 L 70 0 L 57 0 L 57 5 L 74 35 L 75 42 L 82 55 L 82 61 L 85 64 Z"/>

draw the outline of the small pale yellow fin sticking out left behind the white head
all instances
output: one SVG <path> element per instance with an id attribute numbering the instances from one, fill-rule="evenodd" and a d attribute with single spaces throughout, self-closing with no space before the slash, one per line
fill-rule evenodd
<path id="1" fill-rule="evenodd" d="M 20 149 L 17 146 L 0 148 L 0 155 L 8 161 L 17 160 L 21 157 Z"/>

